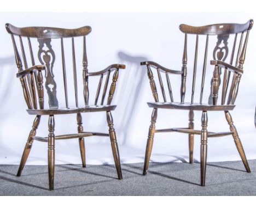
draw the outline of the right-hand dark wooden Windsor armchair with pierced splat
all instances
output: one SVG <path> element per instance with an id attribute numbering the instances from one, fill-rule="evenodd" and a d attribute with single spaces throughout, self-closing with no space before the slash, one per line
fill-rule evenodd
<path id="1" fill-rule="evenodd" d="M 241 76 L 243 74 L 243 64 L 245 62 L 246 56 L 246 48 L 249 37 L 249 30 L 252 29 L 253 20 L 249 20 L 245 24 L 217 24 L 217 25 L 208 25 L 202 27 L 193 27 L 188 25 L 180 25 L 179 29 L 185 34 L 184 40 L 184 50 L 183 50 L 183 59 L 182 59 L 182 70 L 176 71 L 164 68 L 163 66 L 154 63 L 154 62 L 141 62 L 141 65 L 147 66 L 148 77 L 150 81 L 150 87 L 152 89 L 153 97 L 155 102 L 148 102 L 148 106 L 153 108 L 151 124 L 149 127 L 147 147 L 146 147 L 146 155 L 144 162 L 144 170 L 143 175 L 147 174 L 150 155 L 152 152 L 153 139 L 154 134 L 157 132 L 180 132 L 187 133 L 189 138 L 189 162 L 193 163 L 193 149 L 194 149 L 194 135 L 201 135 L 201 186 L 205 186 L 205 178 L 206 178 L 206 158 L 207 158 L 207 138 L 210 137 L 222 137 L 227 135 L 232 135 L 234 138 L 236 148 L 242 158 L 242 162 L 245 165 L 246 171 L 250 173 L 250 169 L 246 160 L 246 155 L 243 150 L 240 138 L 238 137 L 236 127 L 233 124 L 233 120 L 231 118 L 230 112 L 234 109 L 235 100 L 238 92 L 238 86 L 240 83 Z M 188 35 L 195 35 L 195 56 L 194 56 L 194 64 L 193 64 L 193 73 L 187 69 L 188 56 L 187 56 L 187 45 L 188 45 Z M 201 77 L 201 89 L 200 89 L 200 102 L 194 102 L 194 93 L 195 93 L 195 84 L 196 84 L 196 69 L 197 69 L 197 54 L 199 52 L 199 36 L 206 36 L 206 44 L 203 50 L 204 52 L 204 60 L 202 64 L 202 77 Z M 214 67 L 208 69 L 213 72 L 213 76 L 211 76 L 211 86 L 210 86 L 210 96 L 207 96 L 207 102 L 203 102 L 203 91 L 205 86 L 206 79 L 206 66 L 207 66 L 207 57 L 208 57 L 208 42 L 209 39 L 217 36 L 217 43 L 213 48 L 213 60 L 210 61 L 210 64 Z M 233 36 L 233 44 L 231 53 L 229 53 L 228 40 Z M 243 40 L 245 36 L 245 39 Z M 237 44 L 237 39 L 240 40 Z M 214 41 L 216 39 L 214 38 Z M 235 55 L 236 54 L 236 55 Z M 233 60 L 236 56 L 236 62 L 233 64 Z M 226 58 L 229 57 L 229 63 L 225 62 Z M 152 68 L 156 69 L 157 76 L 159 78 L 159 85 L 161 89 L 161 94 L 163 101 L 160 101 L 156 82 L 154 81 L 154 73 Z M 184 102 L 185 93 L 186 93 L 186 79 L 187 74 L 193 74 L 193 82 L 191 87 L 191 97 L 189 102 Z M 224 73 L 222 73 L 224 72 Z M 163 84 L 161 73 L 166 76 L 166 83 Z M 232 77 L 231 77 L 232 73 Z M 181 102 L 174 102 L 173 100 L 173 91 L 171 88 L 171 82 L 169 78 L 169 74 L 173 75 L 181 75 Z M 220 77 L 223 74 L 223 83 L 222 83 L 222 99 L 219 102 L 219 88 L 220 86 Z M 230 82 L 231 79 L 231 82 Z M 210 81 L 210 79 L 209 79 Z M 210 83 L 210 82 L 209 82 Z M 166 87 L 167 85 L 167 87 Z M 165 94 L 165 89 L 167 88 L 168 94 L 170 95 L 170 101 L 167 101 L 167 96 Z M 227 98 L 227 101 L 226 101 Z M 155 130 L 156 118 L 158 115 L 158 109 L 181 109 L 181 110 L 189 110 L 189 124 L 188 127 L 185 128 L 171 128 L 171 129 L 162 129 Z M 194 130 L 194 111 L 202 111 L 202 129 Z M 229 132 L 209 132 L 207 130 L 207 111 L 224 111 L 226 120 L 228 121 L 230 131 Z"/>

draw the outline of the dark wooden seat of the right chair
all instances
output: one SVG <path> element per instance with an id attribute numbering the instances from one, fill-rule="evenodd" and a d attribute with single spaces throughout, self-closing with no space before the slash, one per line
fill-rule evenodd
<path id="1" fill-rule="evenodd" d="M 150 108 L 181 109 L 192 111 L 232 111 L 235 105 L 208 105 L 190 102 L 148 102 Z"/>

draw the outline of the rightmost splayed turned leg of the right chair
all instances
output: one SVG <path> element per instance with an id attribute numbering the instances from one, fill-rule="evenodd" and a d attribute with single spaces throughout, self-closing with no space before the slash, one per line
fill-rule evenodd
<path id="1" fill-rule="evenodd" d="M 233 132 L 232 136 L 234 138 L 234 142 L 236 144 L 236 148 L 237 148 L 237 150 L 238 150 L 238 152 L 239 152 L 239 154 L 241 156 L 243 164 L 245 165 L 246 171 L 248 173 L 251 173 L 251 170 L 249 168 L 248 162 L 246 160 L 245 151 L 243 150 L 243 146 L 242 146 L 241 140 L 238 137 L 238 133 L 237 133 L 236 127 L 233 124 L 232 117 L 231 117 L 231 115 L 230 115 L 230 113 L 228 111 L 225 111 L 225 116 L 226 116 L 226 120 L 228 121 L 228 124 L 230 126 L 230 131 Z"/>

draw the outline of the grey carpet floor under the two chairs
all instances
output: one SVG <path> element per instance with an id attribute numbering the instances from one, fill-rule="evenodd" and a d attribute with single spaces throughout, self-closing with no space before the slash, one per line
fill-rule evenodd
<path id="1" fill-rule="evenodd" d="M 0 166 L 0 195 L 256 195 L 256 160 L 250 160 L 252 173 L 241 161 L 208 163 L 206 186 L 200 186 L 200 164 L 150 163 L 122 164 L 123 180 L 117 179 L 113 165 L 82 168 L 65 164 L 55 167 L 55 189 L 48 191 L 47 166 Z"/>

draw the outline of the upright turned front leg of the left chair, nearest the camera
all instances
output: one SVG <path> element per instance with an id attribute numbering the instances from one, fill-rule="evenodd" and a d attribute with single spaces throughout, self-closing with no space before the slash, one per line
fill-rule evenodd
<path id="1" fill-rule="evenodd" d="M 54 115 L 49 115 L 48 121 L 48 174 L 49 174 L 49 190 L 54 189 L 54 166 L 55 166 L 55 138 L 54 138 Z"/>

